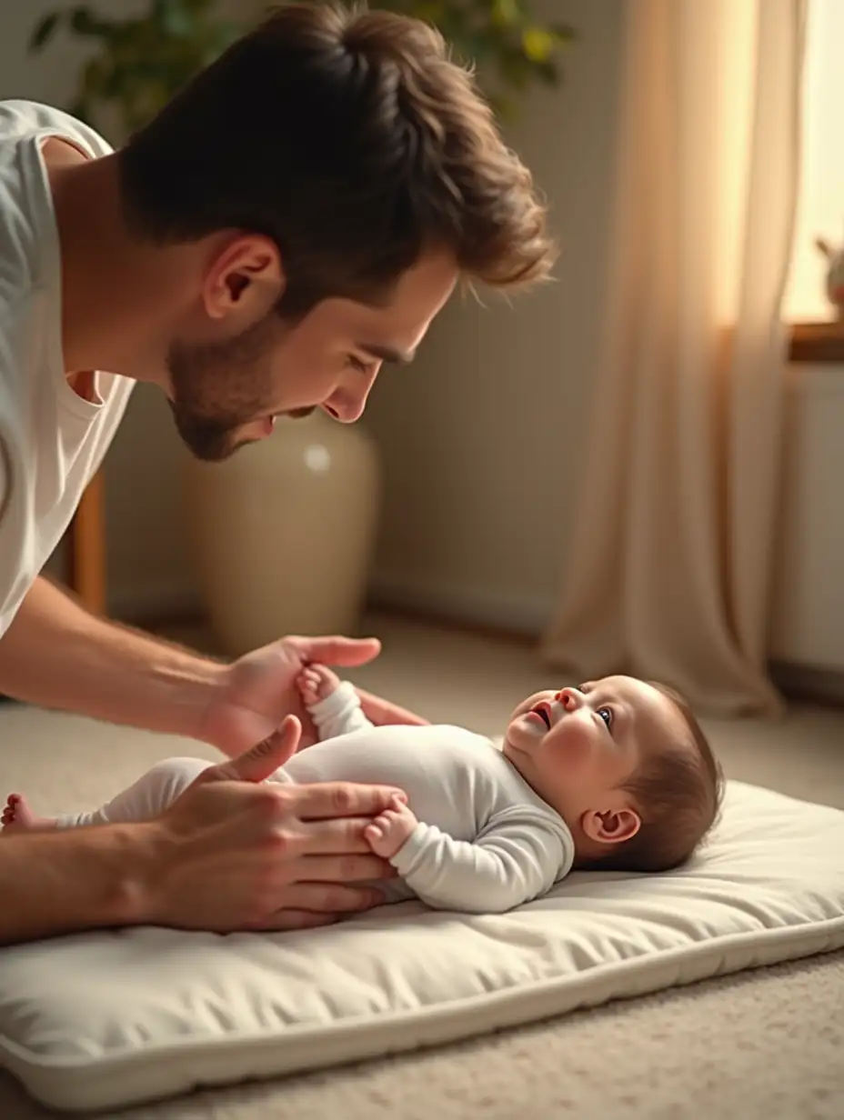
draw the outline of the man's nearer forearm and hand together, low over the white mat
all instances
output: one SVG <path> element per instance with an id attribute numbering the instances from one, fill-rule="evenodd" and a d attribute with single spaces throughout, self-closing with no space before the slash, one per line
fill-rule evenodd
<path id="1" fill-rule="evenodd" d="M 0 837 L 0 944 L 164 925 L 229 933 L 324 925 L 382 900 L 391 872 L 363 839 L 396 790 L 265 781 L 294 754 L 267 743 L 210 766 L 157 820 Z"/>

